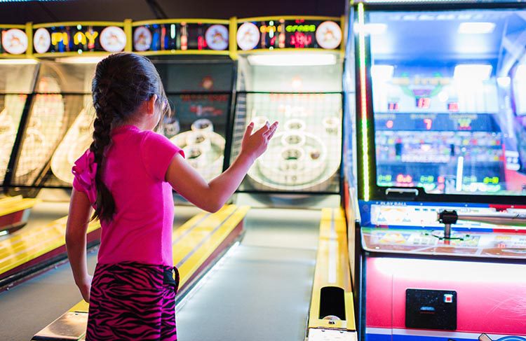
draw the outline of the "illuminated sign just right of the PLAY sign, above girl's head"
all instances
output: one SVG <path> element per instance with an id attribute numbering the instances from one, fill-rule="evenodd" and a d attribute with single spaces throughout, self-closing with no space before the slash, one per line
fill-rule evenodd
<path id="1" fill-rule="evenodd" d="M 133 50 L 144 53 L 227 50 L 229 30 L 224 25 L 173 22 L 133 27 Z"/>

